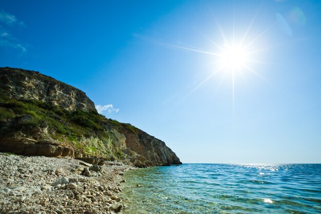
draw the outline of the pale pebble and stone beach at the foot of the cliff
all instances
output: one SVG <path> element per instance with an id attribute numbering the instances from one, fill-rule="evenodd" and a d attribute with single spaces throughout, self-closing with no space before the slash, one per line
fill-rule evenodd
<path id="1" fill-rule="evenodd" d="M 126 207 L 121 162 L 92 165 L 70 157 L 0 153 L 0 213 L 116 213 Z"/>

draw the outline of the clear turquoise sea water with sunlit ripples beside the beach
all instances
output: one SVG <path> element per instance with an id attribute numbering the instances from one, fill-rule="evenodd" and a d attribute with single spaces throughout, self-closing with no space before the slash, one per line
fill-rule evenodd
<path id="1" fill-rule="evenodd" d="M 321 213 L 321 164 L 183 164 L 125 179 L 123 213 Z"/>

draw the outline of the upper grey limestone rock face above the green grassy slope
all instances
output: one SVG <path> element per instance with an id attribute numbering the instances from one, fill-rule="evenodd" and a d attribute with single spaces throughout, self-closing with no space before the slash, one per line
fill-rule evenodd
<path id="1" fill-rule="evenodd" d="M 36 71 L 0 68 L 0 93 L 15 99 L 44 101 L 66 110 L 97 111 L 85 92 Z"/>

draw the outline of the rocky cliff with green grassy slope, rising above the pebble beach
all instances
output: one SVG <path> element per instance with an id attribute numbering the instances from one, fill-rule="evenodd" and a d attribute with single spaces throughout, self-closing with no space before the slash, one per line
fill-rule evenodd
<path id="1" fill-rule="evenodd" d="M 163 141 L 98 114 L 83 91 L 8 67 L 0 68 L 0 151 L 93 163 L 118 159 L 138 167 L 180 164 Z"/>

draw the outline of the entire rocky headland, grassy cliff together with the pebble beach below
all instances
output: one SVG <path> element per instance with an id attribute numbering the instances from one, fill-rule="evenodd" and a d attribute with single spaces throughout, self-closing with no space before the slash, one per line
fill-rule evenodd
<path id="1" fill-rule="evenodd" d="M 99 114 L 36 71 L 0 68 L 0 213 L 114 213 L 122 175 L 182 164 L 161 140 Z"/>

